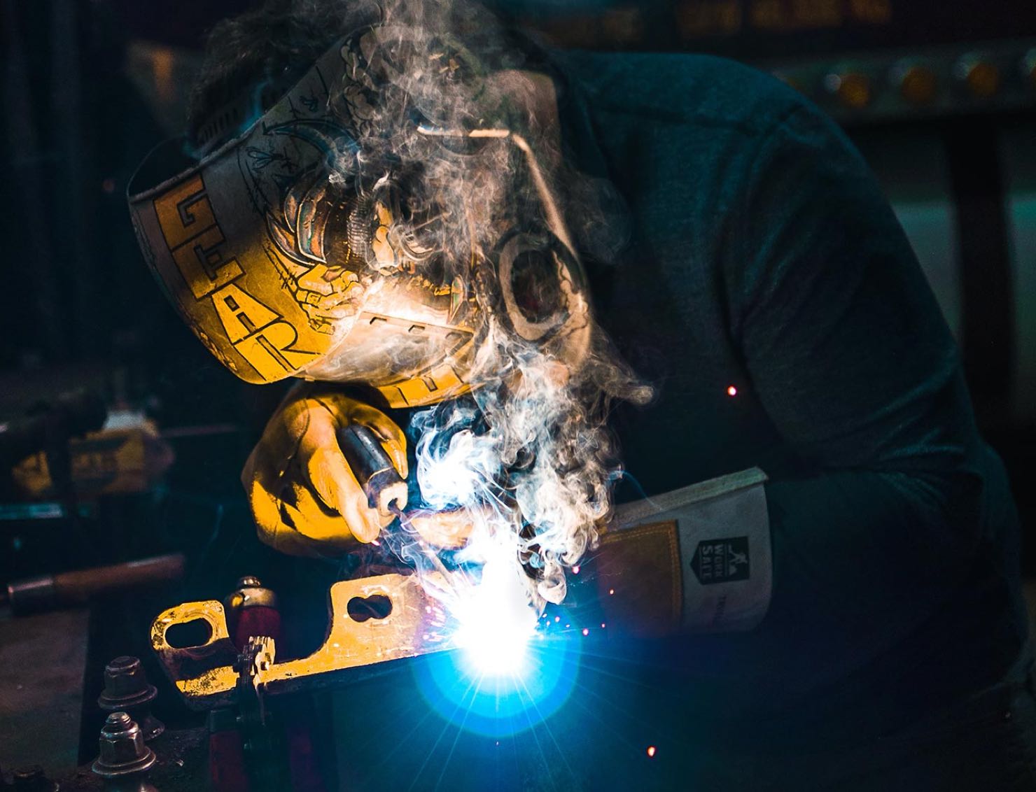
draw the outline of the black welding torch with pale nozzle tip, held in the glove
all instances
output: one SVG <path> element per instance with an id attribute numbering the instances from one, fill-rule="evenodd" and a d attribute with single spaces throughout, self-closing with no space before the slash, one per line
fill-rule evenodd
<path id="1" fill-rule="evenodd" d="M 381 514 L 392 514 L 410 536 L 407 544 L 419 552 L 406 553 L 403 560 L 411 561 L 419 571 L 437 571 L 450 577 L 438 553 L 428 546 L 413 527 L 401 503 L 405 502 L 406 481 L 396 470 L 392 459 L 369 427 L 351 423 L 338 432 L 338 444 L 352 474 L 367 496 L 367 505 Z M 390 549 L 397 550 L 397 542 L 391 538 Z"/>

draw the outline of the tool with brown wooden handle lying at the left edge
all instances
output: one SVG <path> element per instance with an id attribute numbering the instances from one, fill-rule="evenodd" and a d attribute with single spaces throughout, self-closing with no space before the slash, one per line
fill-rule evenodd
<path id="1" fill-rule="evenodd" d="M 9 605 L 16 614 L 21 614 L 83 605 L 99 594 L 177 581 L 183 577 L 183 561 L 182 554 L 171 553 L 110 566 L 12 581 L 0 591 L 0 606 Z"/>

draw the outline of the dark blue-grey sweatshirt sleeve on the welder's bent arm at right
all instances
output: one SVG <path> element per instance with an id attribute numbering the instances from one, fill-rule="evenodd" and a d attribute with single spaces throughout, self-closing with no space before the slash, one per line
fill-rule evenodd
<path id="1" fill-rule="evenodd" d="M 910 244 L 819 111 L 797 107 L 762 141 L 737 216 L 731 332 L 802 462 L 767 486 L 775 559 L 762 629 L 785 644 L 826 636 L 830 667 L 844 672 L 965 581 L 981 537 L 980 441 Z"/>

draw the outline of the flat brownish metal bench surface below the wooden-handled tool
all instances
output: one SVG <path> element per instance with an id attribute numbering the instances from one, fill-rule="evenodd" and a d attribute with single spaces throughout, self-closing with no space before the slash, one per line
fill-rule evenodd
<path id="1" fill-rule="evenodd" d="M 89 612 L 0 616 L 0 767 L 78 764 Z"/>

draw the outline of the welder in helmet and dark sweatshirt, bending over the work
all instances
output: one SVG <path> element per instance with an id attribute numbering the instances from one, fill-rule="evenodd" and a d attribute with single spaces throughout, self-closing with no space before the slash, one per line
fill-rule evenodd
<path id="1" fill-rule="evenodd" d="M 289 393 L 243 472 L 260 537 L 296 555 L 335 556 L 396 518 L 363 491 L 339 430 L 368 427 L 407 477 L 406 438 L 393 419 L 403 418 L 391 409 L 462 398 L 486 306 L 515 314 L 507 295 L 472 302 L 478 316 L 458 311 L 474 288 L 463 283 L 419 298 L 412 282 L 378 311 L 363 302 L 390 288 L 363 271 L 413 274 L 430 242 L 393 236 L 394 217 L 408 211 L 405 175 L 394 193 L 384 173 L 363 174 L 363 147 L 350 151 L 320 137 L 326 124 L 299 122 L 313 109 L 296 85 L 325 57 L 353 69 L 350 112 L 376 117 L 359 74 L 374 68 L 375 50 L 348 38 L 356 6 L 282 0 L 219 26 L 192 108 L 198 165 L 165 192 L 133 199 L 153 204 L 150 214 L 135 210 L 145 251 L 209 349 L 250 381 L 312 380 Z M 764 524 L 731 526 L 731 535 L 766 533 L 770 552 L 752 558 L 753 574 L 766 565 L 773 576 L 755 604 L 765 617 L 748 632 L 688 625 L 652 644 L 650 673 L 636 701 L 627 699 L 686 753 L 665 788 L 1036 788 L 1036 700 L 1006 474 L 976 430 L 954 341 L 860 155 L 808 100 L 733 62 L 557 53 L 501 35 L 514 50 L 494 68 L 526 79 L 500 84 L 524 86 L 515 104 L 557 136 L 557 168 L 580 175 L 570 193 L 586 190 L 560 203 L 564 229 L 547 223 L 543 232 L 556 238 L 560 278 L 578 282 L 579 267 L 565 262 L 582 262 L 595 321 L 629 364 L 618 369 L 655 391 L 636 404 L 643 400 L 627 388 L 610 416 L 626 471 L 617 499 L 753 466 L 769 477 Z M 343 38 L 357 43 L 343 48 Z M 339 55 L 347 51 L 358 55 Z M 413 121 L 426 135 L 457 137 L 435 122 Z M 326 159 L 278 181 L 282 149 L 230 143 L 250 128 L 316 141 Z M 213 201 L 231 192 L 217 195 L 222 177 L 206 169 L 230 150 L 249 186 L 239 216 L 217 225 L 206 190 Z M 332 195 L 338 182 L 321 170 L 344 156 L 358 163 L 357 183 L 368 179 L 352 203 Z M 168 206 L 162 195 L 172 196 Z M 587 204 L 595 211 L 572 211 Z M 620 219 L 628 226 L 616 245 Z M 434 227 L 430 214 L 410 221 Z M 369 240 L 356 244 L 361 226 Z M 336 248 L 335 228 L 353 243 Z M 224 244 L 249 234 L 280 262 L 272 286 L 250 290 L 259 283 L 249 281 L 252 265 Z M 191 264 L 177 259 L 183 251 Z M 359 251 L 366 259 L 353 261 Z M 593 342 L 582 335 L 580 290 L 560 293 L 550 354 L 576 370 Z M 406 347 L 413 320 L 399 314 L 407 300 L 441 330 L 416 351 Z M 284 319 L 289 302 L 308 323 Z M 374 317 L 368 334 L 350 329 L 345 353 L 333 348 L 336 323 L 364 311 Z M 366 354 L 375 347 L 387 350 L 376 361 Z M 584 727 L 595 729 L 585 718 Z M 584 788 L 637 784 L 613 756 L 573 752 Z"/>

